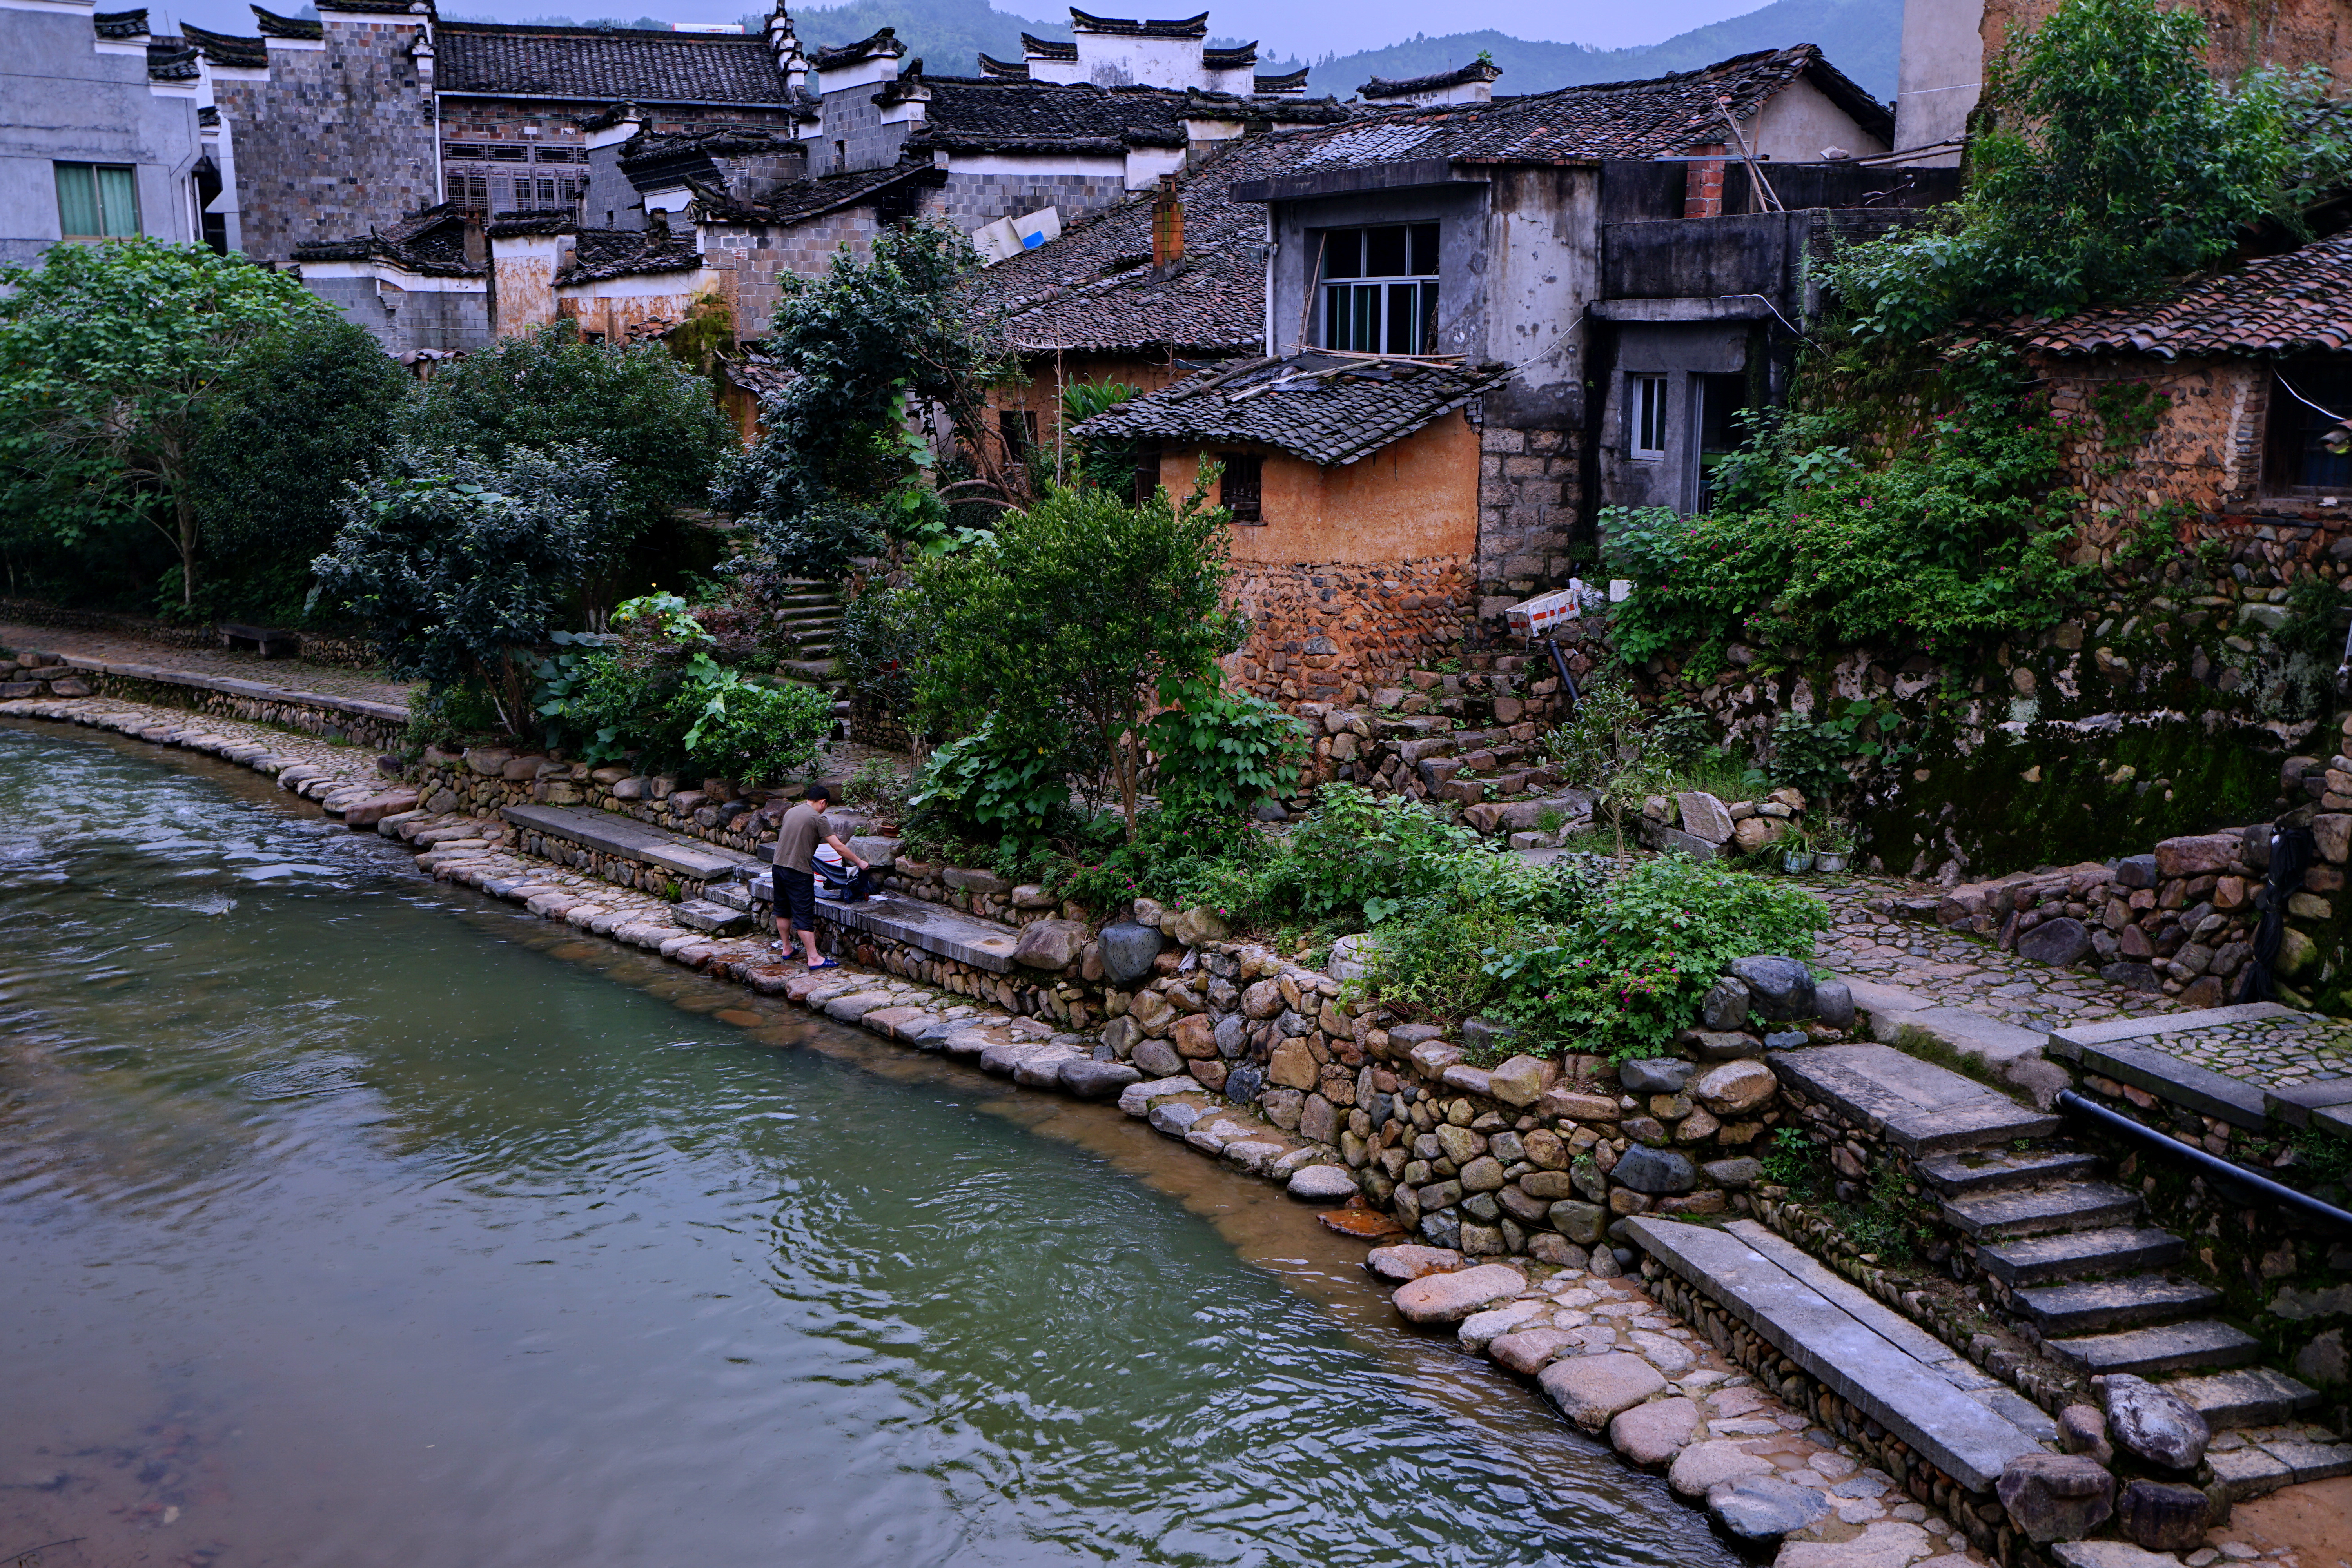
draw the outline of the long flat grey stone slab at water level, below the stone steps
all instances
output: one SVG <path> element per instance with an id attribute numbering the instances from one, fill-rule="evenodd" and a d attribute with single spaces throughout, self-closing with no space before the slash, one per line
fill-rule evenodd
<path id="1" fill-rule="evenodd" d="M 1898 1434 L 1969 1490 L 1987 1490 L 2009 1460 L 2042 1453 L 2042 1443 L 2032 1436 L 1971 1399 L 1933 1363 L 1898 1347 L 1823 1291 L 1792 1276 L 1780 1262 L 1752 1246 L 1750 1237 L 1649 1215 L 1628 1220 L 1625 1229 L 1642 1248 L 1722 1302 L 1783 1356 Z M 1903 1338 L 1910 1345 L 1926 1338 L 1915 1326 L 1907 1328 L 1910 1335 Z M 1929 1342 L 1947 1359 L 1955 1354 L 1936 1340 Z"/>

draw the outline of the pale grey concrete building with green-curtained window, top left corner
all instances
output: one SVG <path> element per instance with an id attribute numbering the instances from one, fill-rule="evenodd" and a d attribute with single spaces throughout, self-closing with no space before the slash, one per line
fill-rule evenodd
<path id="1" fill-rule="evenodd" d="M 219 162 L 179 40 L 89 0 L 0 0 L 0 263 L 59 240 L 207 240 Z M 209 237 L 233 242 L 219 216 Z"/>

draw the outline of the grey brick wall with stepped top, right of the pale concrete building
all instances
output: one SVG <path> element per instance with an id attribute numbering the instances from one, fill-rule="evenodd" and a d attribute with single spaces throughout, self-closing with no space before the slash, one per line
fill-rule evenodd
<path id="1" fill-rule="evenodd" d="M 247 256 L 287 261 L 440 200 L 433 92 L 409 56 L 421 26 L 327 12 L 325 49 L 273 47 L 266 82 L 214 82 Z"/>

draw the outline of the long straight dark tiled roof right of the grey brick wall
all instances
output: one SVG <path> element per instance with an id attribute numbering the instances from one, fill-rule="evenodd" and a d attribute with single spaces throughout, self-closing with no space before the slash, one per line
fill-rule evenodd
<path id="1" fill-rule="evenodd" d="M 539 28 L 445 21 L 435 31 L 442 92 L 609 103 L 783 103 L 764 38 L 633 28 Z"/>

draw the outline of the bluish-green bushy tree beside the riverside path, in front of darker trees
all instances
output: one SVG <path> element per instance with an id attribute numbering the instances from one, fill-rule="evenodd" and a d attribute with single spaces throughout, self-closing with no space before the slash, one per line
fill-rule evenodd
<path id="1" fill-rule="evenodd" d="M 621 529 L 614 463 L 581 447 L 499 465 L 397 447 L 336 510 L 313 604 L 360 616 L 397 677 L 480 684 L 520 733 L 529 651 Z"/>

